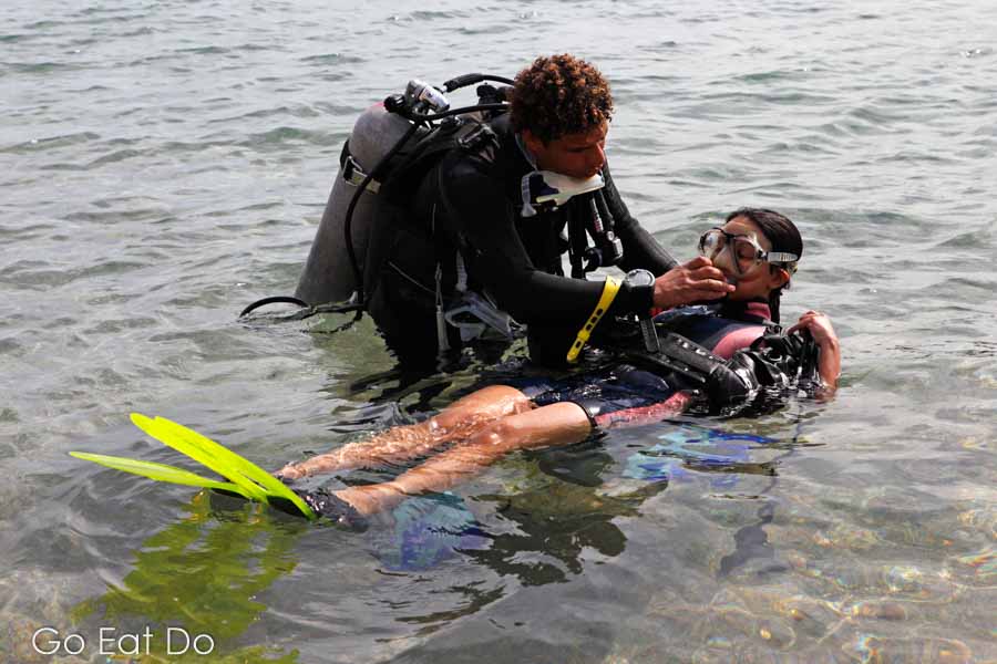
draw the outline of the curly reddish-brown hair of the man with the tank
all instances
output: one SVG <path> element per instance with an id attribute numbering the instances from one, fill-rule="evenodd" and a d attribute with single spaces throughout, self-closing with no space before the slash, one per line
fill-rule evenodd
<path id="1" fill-rule="evenodd" d="M 530 129 L 545 144 L 613 117 L 609 83 L 595 66 L 568 53 L 537 58 L 516 74 L 510 106 L 513 128 Z"/>

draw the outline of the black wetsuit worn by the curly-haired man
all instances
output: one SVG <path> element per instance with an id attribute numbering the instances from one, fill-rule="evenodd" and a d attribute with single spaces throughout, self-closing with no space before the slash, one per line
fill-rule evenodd
<path id="1" fill-rule="evenodd" d="M 590 214 L 576 197 L 555 210 L 522 217 L 522 177 L 533 170 L 507 116 L 492 121 L 495 139 L 474 151 L 454 148 L 422 180 L 411 209 L 412 222 L 393 238 L 373 289 L 370 311 L 400 355 L 435 357 L 436 266 L 444 307 L 459 283 L 455 257 L 466 267 L 467 288 L 486 291 L 517 322 L 526 324 L 531 357 L 557 365 L 586 322 L 603 283 L 564 277 L 565 229 L 573 215 Z M 644 268 L 656 276 L 676 266 L 630 216 L 608 167 L 602 194 L 624 247 L 624 270 Z M 623 288 L 611 313 L 646 312 L 650 293 Z M 611 315 L 606 317 L 610 319 Z M 605 320 L 605 319 L 604 319 Z M 453 329 L 452 346 L 460 344 Z"/>

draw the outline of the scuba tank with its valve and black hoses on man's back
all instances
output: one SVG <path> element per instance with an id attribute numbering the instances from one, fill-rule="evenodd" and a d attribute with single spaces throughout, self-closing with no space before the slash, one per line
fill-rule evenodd
<path id="1" fill-rule="evenodd" d="M 369 307 L 364 276 L 376 273 L 377 263 L 383 258 L 378 242 L 392 232 L 391 208 L 404 205 L 400 198 L 408 194 L 407 183 L 420 172 L 428 172 L 433 159 L 442 156 L 445 139 L 455 134 L 454 127 L 482 127 L 485 121 L 507 111 L 508 87 L 487 83 L 477 87 L 477 104 L 450 108 L 444 93 L 483 81 L 507 86 L 514 83 L 502 76 L 472 73 L 451 79 L 441 89 L 413 79 L 403 94 L 390 95 L 364 111 L 343 145 L 340 168 L 295 297 L 263 298 L 246 307 L 239 318 L 267 304 L 290 303 L 300 310 L 271 318 L 302 320 L 317 313 L 356 312 L 353 321 L 359 320 Z M 441 131 L 443 127 L 448 129 Z M 483 134 L 486 132 L 472 127 L 458 137 L 462 145 L 470 145 L 469 138 Z M 434 145 L 438 135 L 443 139 L 435 143 L 442 145 Z M 345 330 L 353 321 L 332 332 Z"/>

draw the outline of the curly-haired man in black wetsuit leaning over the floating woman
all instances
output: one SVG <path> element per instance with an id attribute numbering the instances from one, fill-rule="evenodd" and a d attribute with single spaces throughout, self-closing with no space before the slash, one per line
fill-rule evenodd
<path id="1" fill-rule="evenodd" d="M 679 266 L 630 216 L 606 164 L 613 100 L 598 70 L 568 54 L 539 58 L 516 76 L 510 106 L 489 123 L 486 141 L 451 151 L 422 180 L 412 210 L 422 232 L 400 230 L 390 248 L 381 248 L 387 260 L 370 312 L 403 362 L 432 360 L 444 345 L 460 346 L 452 325 L 440 343 L 438 310 L 462 291 L 485 293 L 527 326 L 534 361 L 559 365 L 582 328 L 597 324 L 598 309 L 608 318 L 646 314 L 652 307 L 712 300 L 733 290 L 707 258 Z M 538 172 L 575 181 L 600 175 L 604 186 L 557 207 L 534 207 L 526 189 Z M 604 232 L 596 260 L 648 270 L 656 277 L 652 288 L 624 282 L 609 297 L 600 281 L 564 276 L 567 231 L 590 226 L 594 215 L 618 238 L 614 245 L 613 235 Z M 584 247 L 573 250 L 580 255 Z M 615 257 L 607 256 L 614 250 Z"/>

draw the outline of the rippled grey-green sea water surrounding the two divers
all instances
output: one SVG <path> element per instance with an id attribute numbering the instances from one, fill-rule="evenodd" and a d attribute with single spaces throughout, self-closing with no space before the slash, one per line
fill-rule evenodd
<path id="1" fill-rule="evenodd" d="M 984 0 L 4 3 L 0 660 L 53 661 L 43 625 L 69 662 L 146 625 L 192 661 L 997 658 L 995 43 Z M 362 108 L 562 51 L 674 253 L 799 222 L 783 315 L 832 315 L 835 401 L 516 455 L 364 535 L 66 456 L 177 463 L 138 411 L 273 468 L 452 401 L 481 365 L 402 386 L 369 321 L 236 314 L 292 292 Z"/>

